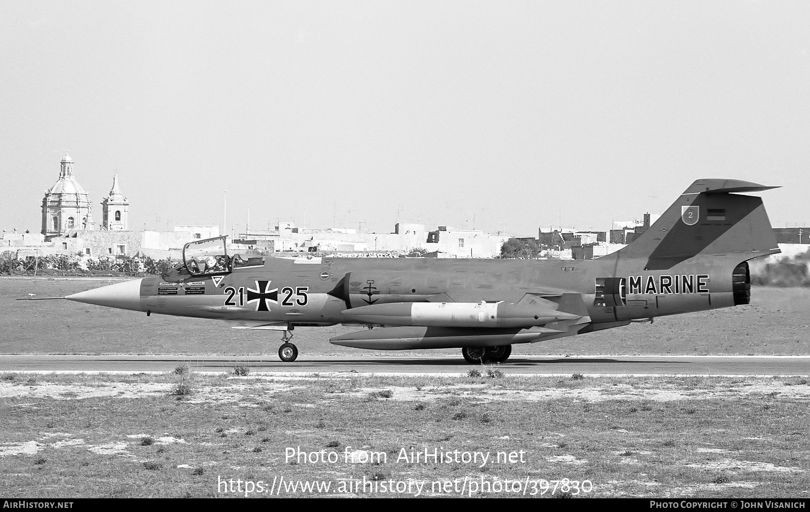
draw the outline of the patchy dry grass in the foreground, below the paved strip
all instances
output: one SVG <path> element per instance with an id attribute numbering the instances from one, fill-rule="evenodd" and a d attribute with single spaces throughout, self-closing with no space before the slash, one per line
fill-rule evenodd
<path id="1" fill-rule="evenodd" d="M 55 374 L 42 376 L 34 390 L 19 379 L 0 381 L 0 390 L 19 394 L 5 398 L 3 449 L 36 443 L 38 450 L 0 455 L 3 493 L 58 497 L 66 491 L 53 481 L 70 479 L 70 493 L 86 497 L 215 497 L 211 476 L 258 481 L 283 468 L 285 479 L 295 480 L 323 480 L 324 471 L 334 471 L 335 478 L 428 481 L 468 474 L 518 480 L 528 474 L 590 480 L 599 493 L 590 496 L 765 497 L 801 495 L 810 471 L 810 390 L 785 386 L 797 378 L 510 376 L 480 384 L 466 376 L 322 375 L 233 382 L 195 373 L 193 399 L 177 401 L 166 390 L 178 378 Z M 77 396 L 41 395 L 56 382 Z M 121 384 L 151 394 L 84 395 Z M 422 387 L 418 394 L 416 384 Z M 622 393 L 614 394 L 616 389 Z M 391 395 L 367 401 L 369 390 Z M 271 411 L 266 402 L 274 404 Z M 631 407 L 637 409 L 633 415 Z M 261 434 L 262 428 L 273 435 Z M 155 432 L 185 442 L 143 434 Z M 147 437 L 160 446 L 144 450 Z M 298 446 L 334 451 L 338 462 L 285 463 L 288 447 Z M 526 462 L 396 462 L 403 447 L 440 446 L 483 450 L 493 459 L 524 450 Z M 346 451 L 386 459 L 347 463 Z M 151 460 L 137 459 L 145 454 Z M 39 459 L 47 463 L 36 464 Z M 183 464 L 191 468 L 175 471 Z"/>

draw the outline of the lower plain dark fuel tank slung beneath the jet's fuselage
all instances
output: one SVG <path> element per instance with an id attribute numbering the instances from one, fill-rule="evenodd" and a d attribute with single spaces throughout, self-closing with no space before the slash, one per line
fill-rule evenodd
<path id="1" fill-rule="evenodd" d="M 494 328 L 481 331 L 481 329 L 469 327 L 382 327 L 335 336 L 329 340 L 329 343 L 372 350 L 497 347 L 512 343 L 531 343 L 545 336 L 562 332 L 548 327 Z"/>

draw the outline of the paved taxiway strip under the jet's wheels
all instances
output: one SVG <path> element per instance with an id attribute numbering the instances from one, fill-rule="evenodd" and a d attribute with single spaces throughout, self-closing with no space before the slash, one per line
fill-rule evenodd
<path id="1" fill-rule="evenodd" d="M 467 373 L 460 356 L 299 356 L 284 363 L 266 356 L 0 356 L 0 372 L 166 372 L 181 364 L 194 371 L 228 372 L 246 365 L 273 373 Z M 605 375 L 808 375 L 810 356 L 518 356 L 504 373 Z"/>

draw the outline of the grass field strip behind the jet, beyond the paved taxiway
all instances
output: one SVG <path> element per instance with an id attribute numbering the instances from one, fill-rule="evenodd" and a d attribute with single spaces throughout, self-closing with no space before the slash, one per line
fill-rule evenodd
<path id="1" fill-rule="evenodd" d="M 122 279 L 0 278 L 2 354 L 225 354 L 275 353 L 280 334 L 235 331 L 215 320 L 146 316 L 70 301 L 16 301 L 64 297 Z M 514 345 L 516 355 L 753 354 L 807 355 L 810 288 L 752 289 L 752 304 L 657 318 L 608 331 Z M 356 327 L 305 327 L 296 344 L 309 354 L 373 353 L 336 347 L 331 336 Z M 452 353 L 456 349 L 437 351 Z M 391 355 L 391 352 L 379 352 Z M 416 353 L 424 353 L 416 352 Z"/>

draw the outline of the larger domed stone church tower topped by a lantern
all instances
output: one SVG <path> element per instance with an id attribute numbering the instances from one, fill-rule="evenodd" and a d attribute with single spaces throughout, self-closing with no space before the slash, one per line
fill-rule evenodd
<path id="1" fill-rule="evenodd" d="M 42 234 L 55 237 L 77 229 L 92 230 L 90 195 L 73 175 L 73 159 L 62 158 L 59 179 L 42 199 Z"/>

